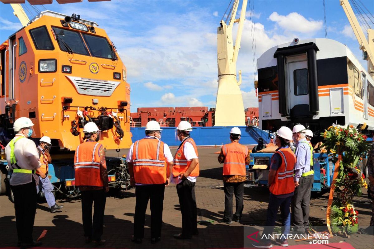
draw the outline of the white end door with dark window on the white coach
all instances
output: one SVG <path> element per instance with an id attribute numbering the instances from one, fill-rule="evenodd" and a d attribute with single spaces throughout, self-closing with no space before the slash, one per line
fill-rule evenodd
<path id="1" fill-rule="evenodd" d="M 286 57 L 290 111 L 295 105 L 309 105 L 308 63 L 306 53 Z M 287 86 L 286 86 L 287 88 Z"/>

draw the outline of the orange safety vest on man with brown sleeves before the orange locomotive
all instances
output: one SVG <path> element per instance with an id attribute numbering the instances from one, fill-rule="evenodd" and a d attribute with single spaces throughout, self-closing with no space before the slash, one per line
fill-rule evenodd
<path id="1" fill-rule="evenodd" d="M 100 143 L 85 141 L 79 144 L 74 155 L 75 185 L 103 187 L 100 177 Z"/>

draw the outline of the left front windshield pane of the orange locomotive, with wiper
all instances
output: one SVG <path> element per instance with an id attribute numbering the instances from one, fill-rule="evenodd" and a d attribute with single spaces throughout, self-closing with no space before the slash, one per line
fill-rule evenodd
<path id="1" fill-rule="evenodd" d="M 53 27 L 53 31 L 55 32 L 58 46 L 62 51 L 89 56 L 79 32 L 55 27 Z"/>

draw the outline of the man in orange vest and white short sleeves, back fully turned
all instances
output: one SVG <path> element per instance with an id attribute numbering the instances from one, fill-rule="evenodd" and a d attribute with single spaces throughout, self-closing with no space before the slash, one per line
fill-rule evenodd
<path id="1" fill-rule="evenodd" d="M 157 243 L 161 238 L 165 186 L 169 185 L 173 168 L 173 156 L 169 146 L 161 141 L 161 131 L 158 122 L 149 121 L 145 126 L 145 137 L 131 145 L 126 159 L 131 185 L 135 185 L 134 235 L 131 241 L 137 244 L 140 244 L 144 237 L 145 211 L 149 199 L 151 243 Z"/>

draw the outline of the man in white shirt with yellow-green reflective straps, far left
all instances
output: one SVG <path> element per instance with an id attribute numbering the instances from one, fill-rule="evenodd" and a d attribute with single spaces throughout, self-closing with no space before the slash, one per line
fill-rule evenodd
<path id="1" fill-rule="evenodd" d="M 21 248 L 42 244 L 33 240 L 37 201 L 35 186 L 39 183 L 39 177 L 35 173 L 40 168 L 36 145 L 27 139 L 33 134 L 33 126 L 29 118 L 18 118 L 13 123 L 16 136 L 5 147 L 6 160 L 13 171 L 10 188 L 14 195 L 18 246 Z"/>

